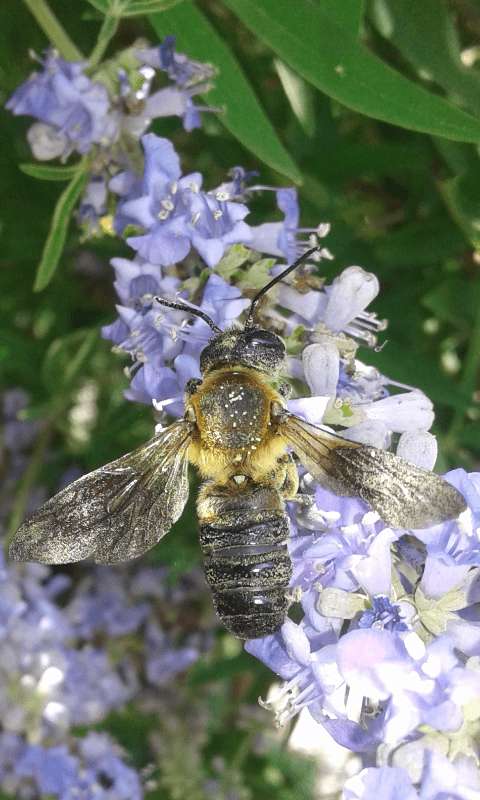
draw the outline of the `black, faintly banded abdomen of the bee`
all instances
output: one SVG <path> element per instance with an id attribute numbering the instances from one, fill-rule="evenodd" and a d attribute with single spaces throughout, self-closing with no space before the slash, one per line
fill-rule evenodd
<path id="1" fill-rule="evenodd" d="M 280 508 L 252 508 L 249 514 L 242 509 L 237 515 L 229 508 L 214 524 L 201 524 L 213 603 L 235 636 L 258 639 L 285 622 L 292 577 L 288 538 L 288 518 Z"/>

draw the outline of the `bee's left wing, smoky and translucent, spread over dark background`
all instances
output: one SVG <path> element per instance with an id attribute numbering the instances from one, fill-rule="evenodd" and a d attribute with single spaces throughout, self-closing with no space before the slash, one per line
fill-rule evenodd
<path id="1" fill-rule="evenodd" d="M 71 483 L 19 528 L 12 558 L 65 564 L 94 553 L 97 563 L 116 564 L 149 550 L 187 502 L 191 431 L 191 423 L 178 420 Z"/>

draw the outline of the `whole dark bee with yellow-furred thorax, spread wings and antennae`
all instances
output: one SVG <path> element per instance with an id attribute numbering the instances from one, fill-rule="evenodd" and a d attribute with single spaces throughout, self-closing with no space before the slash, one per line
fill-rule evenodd
<path id="1" fill-rule="evenodd" d="M 255 639 L 275 633 L 290 605 L 285 502 L 297 494 L 298 473 L 287 448 L 319 484 L 361 498 L 389 527 L 424 528 L 464 511 L 463 496 L 438 475 L 288 411 L 289 386 L 276 380 L 285 344 L 254 313 L 315 249 L 255 295 L 243 329 L 222 331 L 199 309 L 155 298 L 214 333 L 200 356 L 202 378 L 187 383 L 184 416 L 45 503 L 17 531 L 12 558 L 64 564 L 93 553 L 97 563 L 117 564 L 140 556 L 180 517 L 190 463 L 204 479 L 200 544 L 216 612 L 234 636 Z"/>

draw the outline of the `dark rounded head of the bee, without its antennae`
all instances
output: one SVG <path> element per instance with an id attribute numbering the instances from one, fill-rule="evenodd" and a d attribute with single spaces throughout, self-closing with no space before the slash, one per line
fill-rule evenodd
<path id="1" fill-rule="evenodd" d="M 260 372 L 277 372 L 285 361 L 285 355 L 285 344 L 272 331 L 256 326 L 243 331 L 231 329 L 214 336 L 202 350 L 200 371 L 204 375 L 228 364 Z"/>

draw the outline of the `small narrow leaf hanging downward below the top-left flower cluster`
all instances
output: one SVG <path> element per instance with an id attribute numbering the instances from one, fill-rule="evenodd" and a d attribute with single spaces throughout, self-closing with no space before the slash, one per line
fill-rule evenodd
<path id="1" fill-rule="evenodd" d="M 87 182 L 90 161 L 84 157 L 78 167 L 77 174 L 58 198 L 53 212 L 52 225 L 43 248 L 42 258 L 38 265 L 34 291 L 40 292 L 50 282 L 62 254 L 67 236 L 68 223 L 73 207 L 80 197 Z"/>

